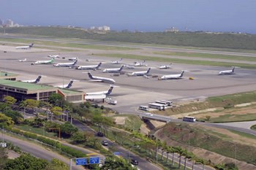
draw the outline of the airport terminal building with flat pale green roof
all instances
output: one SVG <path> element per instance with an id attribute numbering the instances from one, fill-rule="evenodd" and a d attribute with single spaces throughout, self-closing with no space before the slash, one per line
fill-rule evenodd
<path id="1" fill-rule="evenodd" d="M 18 101 L 28 98 L 37 101 L 48 101 L 48 98 L 53 93 L 59 93 L 65 100 L 72 103 L 80 103 L 84 101 L 84 92 L 59 89 L 49 85 L 38 85 L 29 82 L 18 82 L 13 80 L 0 79 L 0 98 L 4 96 L 12 96 Z"/>

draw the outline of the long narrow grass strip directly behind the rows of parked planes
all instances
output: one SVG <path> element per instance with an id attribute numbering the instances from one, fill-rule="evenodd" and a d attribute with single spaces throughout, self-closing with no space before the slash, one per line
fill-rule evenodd
<path id="1" fill-rule="evenodd" d="M 199 60 L 189 60 L 189 59 L 180 59 L 180 58 L 164 58 L 164 57 L 154 57 L 149 55 L 130 55 L 130 54 L 121 54 L 121 53 L 94 53 L 94 56 L 104 56 L 111 58 L 129 58 L 135 60 L 146 60 L 146 61 L 161 61 L 161 62 L 173 62 L 173 63 L 187 63 L 193 65 L 202 65 L 202 66 L 240 66 L 246 69 L 256 69 L 256 64 L 249 63 L 232 63 L 232 62 L 221 62 L 221 61 L 199 61 Z"/>

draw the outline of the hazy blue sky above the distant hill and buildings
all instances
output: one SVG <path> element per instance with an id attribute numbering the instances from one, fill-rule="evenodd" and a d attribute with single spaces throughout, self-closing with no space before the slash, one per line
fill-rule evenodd
<path id="1" fill-rule="evenodd" d="M 256 0 L 1 0 L 0 19 L 26 26 L 256 34 Z"/>

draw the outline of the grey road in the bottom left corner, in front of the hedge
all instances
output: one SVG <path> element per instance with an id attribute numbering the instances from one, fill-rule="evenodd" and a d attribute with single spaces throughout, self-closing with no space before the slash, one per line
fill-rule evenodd
<path id="1" fill-rule="evenodd" d="M 4 141 L 12 142 L 12 144 L 20 147 L 24 152 L 29 152 L 31 155 L 36 156 L 37 158 L 42 158 L 47 161 L 51 161 L 53 158 L 59 159 L 60 161 L 67 163 L 69 165 L 69 159 L 64 158 L 64 156 L 57 154 L 56 152 L 51 152 L 46 150 L 44 147 L 39 146 L 31 142 L 27 142 L 21 139 L 14 138 L 12 136 L 7 136 L 4 134 Z M 82 170 L 82 166 L 73 166 L 72 169 Z"/>

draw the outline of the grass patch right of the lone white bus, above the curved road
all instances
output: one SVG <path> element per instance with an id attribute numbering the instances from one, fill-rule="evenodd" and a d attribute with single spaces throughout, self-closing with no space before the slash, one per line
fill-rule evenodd
<path id="1" fill-rule="evenodd" d="M 211 118 L 211 123 L 228 123 L 228 122 L 241 122 L 256 120 L 256 114 L 243 114 L 243 115 L 221 115 L 219 117 Z"/>

